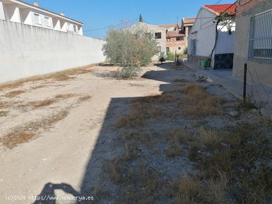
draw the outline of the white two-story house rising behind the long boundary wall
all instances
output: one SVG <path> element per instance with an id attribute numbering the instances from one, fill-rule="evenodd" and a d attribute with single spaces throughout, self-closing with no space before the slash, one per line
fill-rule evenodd
<path id="1" fill-rule="evenodd" d="M 22 0 L 0 0 L 0 19 L 83 35 L 83 23 Z"/>

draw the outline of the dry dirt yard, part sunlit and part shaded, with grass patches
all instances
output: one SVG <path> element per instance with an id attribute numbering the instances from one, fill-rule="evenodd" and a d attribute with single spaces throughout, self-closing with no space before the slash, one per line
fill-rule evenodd
<path id="1" fill-rule="evenodd" d="M 185 66 L 117 69 L 0 86 L 1 204 L 270 201 L 270 121 Z"/>

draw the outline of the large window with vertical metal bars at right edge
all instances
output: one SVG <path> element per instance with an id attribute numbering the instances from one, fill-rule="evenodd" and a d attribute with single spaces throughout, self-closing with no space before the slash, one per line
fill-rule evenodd
<path id="1" fill-rule="evenodd" d="M 272 10 L 250 19 L 248 61 L 272 64 Z"/>

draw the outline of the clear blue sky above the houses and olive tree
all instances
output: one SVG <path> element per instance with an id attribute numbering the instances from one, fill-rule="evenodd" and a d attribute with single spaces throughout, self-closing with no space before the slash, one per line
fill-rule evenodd
<path id="1" fill-rule="evenodd" d="M 36 0 L 25 0 L 33 3 Z M 184 17 L 196 16 L 201 5 L 219 0 L 37 0 L 39 6 L 84 23 L 83 31 L 116 25 L 142 15 L 146 22 L 159 25 L 176 23 Z M 221 0 L 219 4 L 235 0 Z M 85 36 L 104 38 L 107 29 L 84 32 Z"/>

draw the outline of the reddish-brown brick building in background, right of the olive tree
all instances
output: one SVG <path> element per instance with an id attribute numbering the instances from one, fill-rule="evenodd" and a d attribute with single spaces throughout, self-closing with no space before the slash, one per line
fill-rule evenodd
<path id="1" fill-rule="evenodd" d="M 187 37 L 195 18 L 183 18 L 181 24 L 158 25 L 166 29 L 166 51 L 182 53 L 187 46 Z"/>

